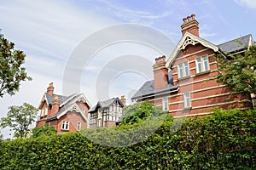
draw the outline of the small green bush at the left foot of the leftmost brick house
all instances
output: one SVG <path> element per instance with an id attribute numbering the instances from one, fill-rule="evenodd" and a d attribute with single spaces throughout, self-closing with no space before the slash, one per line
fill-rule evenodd
<path id="1" fill-rule="evenodd" d="M 32 130 L 32 137 L 38 138 L 40 136 L 51 136 L 57 132 L 55 127 L 50 127 L 48 123 L 44 124 L 43 127 L 35 127 Z"/>

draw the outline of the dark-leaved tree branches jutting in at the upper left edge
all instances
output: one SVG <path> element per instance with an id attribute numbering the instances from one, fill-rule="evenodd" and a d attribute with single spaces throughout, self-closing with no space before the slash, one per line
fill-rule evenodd
<path id="1" fill-rule="evenodd" d="M 0 97 L 4 94 L 14 95 L 19 91 L 21 81 L 32 80 L 21 66 L 25 57 L 23 51 L 15 49 L 14 42 L 0 35 Z"/>

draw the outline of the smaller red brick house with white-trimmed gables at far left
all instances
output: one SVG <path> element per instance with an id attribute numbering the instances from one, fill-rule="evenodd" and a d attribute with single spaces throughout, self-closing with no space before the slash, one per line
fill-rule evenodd
<path id="1" fill-rule="evenodd" d="M 49 126 L 57 129 L 57 133 L 79 131 L 82 128 L 87 128 L 90 107 L 84 94 L 72 94 L 70 96 L 54 94 L 54 87 L 51 82 L 40 101 L 38 107 L 40 116 L 36 122 L 36 127 L 48 123 Z"/>

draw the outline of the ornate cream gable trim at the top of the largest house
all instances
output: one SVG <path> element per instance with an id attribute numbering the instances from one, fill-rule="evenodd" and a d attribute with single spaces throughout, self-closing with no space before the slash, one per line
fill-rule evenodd
<path id="1" fill-rule="evenodd" d="M 211 42 L 207 42 L 207 40 L 202 39 L 201 37 L 197 37 L 194 34 L 189 33 L 188 31 L 184 34 L 182 39 L 177 43 L 176 48 L 173 50 L 171 56 L 166 61 L 166 67 L 170 68 L 172 66 L 173 60 L 177 57 L 177 54 L 188 45 L 195 45 L 197 43 L 201 43 L 203 46 L 207 48 L 211 48 L 214 52 L 218 51 L 218 47 Z"/>

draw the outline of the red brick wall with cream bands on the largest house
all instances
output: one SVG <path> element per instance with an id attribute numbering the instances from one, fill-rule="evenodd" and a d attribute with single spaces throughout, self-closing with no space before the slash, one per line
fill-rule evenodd
<path id="1" fill-rule="evenodd" d="M 208 56 L 210 71 L 196 73 L 195 59 Z M 189 77 L 178 79 L 177 65 L 184 61 L 189 62 Z M 209 114 L 216 106 L 228 107 L 251 107 L 249 96 L 243 97 L 232 94 L 228 88 L 219 85 L 214 76 L 218 75 L 218 65 L 212 49 L 205 48 L 201 44 L 188 45 L 172 63 L 172 74 L 174 85 L 179 86 L 176 94 L 166 94 L 169 102 L 169 113 L 172 116 L 195 116 L 196 114 Z M 191 108 L 184 108 L 183 94 L 190 93 Z M 157 106 L 162 106 L 162 99 L 166 97 L 155 96 L 149 101 Z"/>

